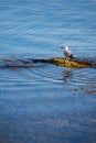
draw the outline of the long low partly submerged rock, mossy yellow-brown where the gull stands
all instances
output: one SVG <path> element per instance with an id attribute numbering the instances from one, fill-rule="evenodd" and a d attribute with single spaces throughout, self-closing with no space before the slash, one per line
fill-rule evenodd
<path id="1" fill-rule="evenodd" d="M 95 61 L 89 61 L 89 58 L 63 58 L 63 57 L 53 57 L 47 59 L 4 59 L 3 67 L 33 67 L 39 63 L 51 63 L 56 66 L 70 67 L 70 68 L 84 68 L 84 67 L 96 67 Z M 0 66 L 1 67 L 1 66 Z"/>

